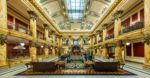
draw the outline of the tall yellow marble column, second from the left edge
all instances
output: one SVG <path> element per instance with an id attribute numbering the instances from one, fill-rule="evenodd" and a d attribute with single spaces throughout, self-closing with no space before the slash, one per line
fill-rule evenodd
<path id="1" fill-rule="evenodd" d="M 37 43 L 37 14 L 34 11 L 27 11 L 29 16 L 30 16 L 30 30 L 31 30 L 31 35 L 33 37 L 32 41 L 30 42 L 30 57 L 32 61 L 37 60 L 37 49 L 36 49 L 36 43 Z"/>

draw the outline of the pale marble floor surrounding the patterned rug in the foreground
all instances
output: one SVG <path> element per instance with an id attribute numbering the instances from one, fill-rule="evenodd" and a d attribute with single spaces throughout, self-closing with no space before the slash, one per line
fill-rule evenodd
<path id="1" fill-rule="evenodd" d="M 15 74 L 26 70 L 24 65 L 18 65 L 12 68 L 0 69 L 0 78 L 150 78 L 150 70 L 142 68 L 142 64 L 126 62 L 125 70 L 135 73 L 133 76 L 115 76 L 115 75 L 36 75 L 36 76 L 15 76 Z"/>

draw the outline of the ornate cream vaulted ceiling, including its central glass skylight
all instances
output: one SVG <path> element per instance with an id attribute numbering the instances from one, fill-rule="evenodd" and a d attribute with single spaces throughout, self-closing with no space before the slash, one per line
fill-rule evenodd
<path id="1" fill-rule="evenodd" d="M 90 32 L 114 0 L 36 0 L 61 32 Z"/>

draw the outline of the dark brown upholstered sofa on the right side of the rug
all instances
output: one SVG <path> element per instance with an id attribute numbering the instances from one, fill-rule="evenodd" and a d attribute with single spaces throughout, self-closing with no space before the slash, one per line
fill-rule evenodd
<path id="1" fill-rule="evenodd" d="M 119 62 L 95 62 L 93 68 L 95 71 L 117 71 Z"/>

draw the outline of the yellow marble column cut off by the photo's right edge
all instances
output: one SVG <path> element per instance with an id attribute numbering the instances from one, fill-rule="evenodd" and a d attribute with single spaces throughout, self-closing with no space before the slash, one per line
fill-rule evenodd
<path id="1" fill-rule="evenodd" d="M 144 0 L 144 34 L 145 36 L 145 44 L 144 44 L 144 65 L 150 66 L 150 0 Z"/>

